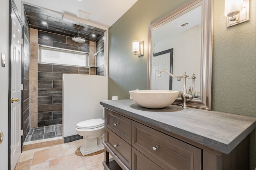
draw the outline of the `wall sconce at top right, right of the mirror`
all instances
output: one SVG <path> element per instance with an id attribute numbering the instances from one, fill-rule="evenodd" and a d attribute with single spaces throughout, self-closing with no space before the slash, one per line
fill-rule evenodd
<path id="1" fill-rule="evenodd" d="M 250 0 L 225 0 L 227 27 L 249 21 Z"/>

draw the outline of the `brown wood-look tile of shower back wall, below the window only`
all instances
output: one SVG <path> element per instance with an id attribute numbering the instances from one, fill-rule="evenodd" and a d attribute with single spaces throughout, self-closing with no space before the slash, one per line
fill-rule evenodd
<path id="1" fill-rule="evenodd" d="M 38 127 L 62 123 L 62 74 L 89 74 L 89 68 L 38 64 Z"/>

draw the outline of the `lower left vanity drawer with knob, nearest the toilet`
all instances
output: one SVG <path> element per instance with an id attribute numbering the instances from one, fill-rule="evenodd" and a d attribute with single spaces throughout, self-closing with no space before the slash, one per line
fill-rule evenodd
<path id="1" fill-rule="evenodd" d="M 116 154 L 116 156 L 131 169 L 132 146 L 118 137 L 110 129 L 105 129 L 105 143 Z"/>

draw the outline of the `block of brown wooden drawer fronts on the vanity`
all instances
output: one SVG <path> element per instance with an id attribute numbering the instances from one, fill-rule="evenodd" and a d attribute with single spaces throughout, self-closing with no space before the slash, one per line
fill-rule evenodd
<path id="1" fill-rule="evenodd" d="M 201 169 L 201 149 L 108 109 L 105 122 L 105 144 L 129 170 Z"/>

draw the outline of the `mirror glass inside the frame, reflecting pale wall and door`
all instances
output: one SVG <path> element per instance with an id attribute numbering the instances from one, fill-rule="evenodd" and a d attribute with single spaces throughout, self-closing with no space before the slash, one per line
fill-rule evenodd
<path id="1" fill-rule="evenodd" d="M 201 13 L 202 5 L 188 11 L 182 16 L 162 25 L 153 32 L 153 53 L 159 53 L 166 49 L 173 49 L 172 74 L 182 75 L 184 71 L 188 76 L 194 73 L 197 79 L 200 80 L 200 51 L 201 51 Z M 152 69 L 156 74 L 152 74 L 152 82 L 158 82 L 158 90 L 182 90 L 183 81 L 174 78 L 172 82 L 165 80 L 163 77 L 158 77 L 158 71 L 165 69 L 170 70 L 169 57 L 159 56 L 159 59 L 153 55 Z M 165 63 L 166 61 L 166 63 Z M 161 66 L 160 66 L 161 64 Z M 156 69 L 160 68 L 160 69 Z M 191 75 L 190 75 L 191 74 Z M 164 74 L 163 76 L 169 77 Z M 162 80 L 161 80 L 162 79 Z M 157 80 L 157 81 L 156 81 Z M 192 81 L 187 80 L 187 84 L 192 86 Z M 172 84 L 170 86 L 164 86 Z M 200 89 L 200 83 L 195 84 L 196 89 Z M 155 90 L 152 83 L 152 90 Z"/>

